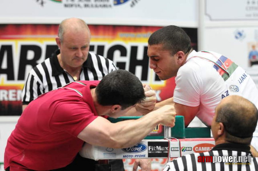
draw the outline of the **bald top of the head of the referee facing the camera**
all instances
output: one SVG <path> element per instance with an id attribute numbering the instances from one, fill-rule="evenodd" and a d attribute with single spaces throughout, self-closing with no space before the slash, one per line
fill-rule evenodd
<path id="1" fill-rule="evenodd" d="M 88 25 L 82 19 L 65 19 L 59 25 L 58 37 L 60 38 L 60 41 L 63 42 L 65 32 L 79 32 L 81 30 L 88 31 L 88 33 L 90 34 L 90 29 Z"/>

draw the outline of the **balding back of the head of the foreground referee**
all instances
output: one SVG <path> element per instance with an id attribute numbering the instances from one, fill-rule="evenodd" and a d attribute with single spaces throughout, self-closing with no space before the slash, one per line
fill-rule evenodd
<path id="1" fill-rule="evenodd" d="M 216 122 L 223 123 L 226 141 L 250 144 L 258 119 L 255 105 L 238 95 L 221 100 L 216 109 Z"/>

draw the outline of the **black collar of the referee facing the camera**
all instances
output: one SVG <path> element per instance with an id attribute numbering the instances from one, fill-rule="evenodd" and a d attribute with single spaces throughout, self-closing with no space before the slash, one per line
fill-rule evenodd
<path id="1" fill-rule="evenodd" d="M 49 58 L 50 60 L 50 64 L 51 64 L 51 68 L 52 68 L 52 76 L 58 76 L 60 74 L 62 74 L 63 72 L 65 72 L 65 70 L 60 66 L 58 59 L 57 59 L 57 55 L 60 54 L 60 50 L 57 49 Z M 88 57 L 87 60 L 82 64 L 83 68 L 89 68 L 91 69 L 93 66 L 92 63 L 92 59 L 91 59 L 91 54 L 90 52 L 88 53 Z"/>

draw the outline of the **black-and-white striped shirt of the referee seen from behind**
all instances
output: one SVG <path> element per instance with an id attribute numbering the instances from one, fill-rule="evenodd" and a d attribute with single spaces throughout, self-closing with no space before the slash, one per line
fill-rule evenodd
<path id="1" fill-rule="evenodd" d="M 251 155 L 250 147 L 243 144 L 218 144 L 211 151 L 192 153 L 167 163 L 163 171 L 258 171 L 258 158 Z M 198 162 L 199 156 L 249 156 L 249 162 Z M 200 158 L 200 157 L 199 157 Z M 214 159 L 214 158 L 213 158 Z M 213 160 L 214 161 L 214 160 Z"/>

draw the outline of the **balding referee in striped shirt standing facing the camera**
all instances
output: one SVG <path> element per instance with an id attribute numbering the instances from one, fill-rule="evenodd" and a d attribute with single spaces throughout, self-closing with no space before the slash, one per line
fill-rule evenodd
<path id="1" fill-rule="evenodd" d="M 101 80 L 108 73 L 117 70 L 111 60 L 89 52 L 90 30 L 81 19 L 63 20 L 59 25 L 58 37 L 55 40 L 60 50 L 56 50 L 50 58 L 29 72 L 22 91 L 23 110 L 35 97 L 57 87 L 78 80 Z M 149 111 L 152 105 L 154 107 L 155 92 L 149 89 L 145 91 L 145 96 L 147 98 L 144 102 L 147 103 L 139 104 L 137 111 L 145 112 Z M 113 171 L 124 171 L 122 160 L 109 160 L 109 163 L 112 164 Z M 63 170 L 85 170 L 85 166 L 87 170 L 92 170 L 90 166 L 93 165 L 90 164 L 95 165 L 96 162 L 82 158 L 78 154 L 71 166 Z M 150 167 L 148 160 L 141 159 L 135 162 L 135 165 L 140 164 L 142 169 Z M 93 170 L 95 171 L 95 168 Z"/>

